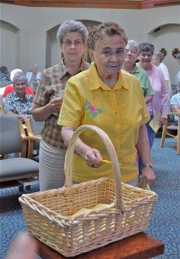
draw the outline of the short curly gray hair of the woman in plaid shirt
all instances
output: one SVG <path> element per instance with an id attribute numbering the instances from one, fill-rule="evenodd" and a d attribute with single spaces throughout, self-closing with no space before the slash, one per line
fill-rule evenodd
<path id="1" fill-rule="evenodd" d="M 64 21 L 59 26 L 59 29 L 57 30 L 57 41 L 59 44 L 63 44 L 63 37 L 68 32 L 79 32 L 81 33 L 83 44 L 86 43 L 86 40 L 88 39 L 88 30 L 86 26 L 81 23 L 81 21 Z"/>

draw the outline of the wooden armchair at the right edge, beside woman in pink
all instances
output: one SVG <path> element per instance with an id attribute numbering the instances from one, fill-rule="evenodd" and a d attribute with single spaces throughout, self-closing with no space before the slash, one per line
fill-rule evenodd
<path id="1" fill-rule="evenodd" d="M 178 126 L 173 124 L 172 115 L 178 116 Z M 161 136 L 161 147 L 164 146 L 166 135 L 174 137 L 177 140 L 177 154 L 180 155 L 180 113 L 169 112 L 166 124 L 163 125 L 163 132 Z"/>

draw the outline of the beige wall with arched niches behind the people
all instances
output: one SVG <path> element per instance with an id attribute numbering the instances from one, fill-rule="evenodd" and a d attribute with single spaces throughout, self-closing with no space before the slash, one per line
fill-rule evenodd
<path id="1" fill-rule="evenodd" d="M 56 40 L 57 27 L 67 19 L 82 20 L 87 25 L 115 21 L 129 39 L 151 42 L 155 50 L 166 48 L 164 59 L 172 84 L 179 70 L 172 50 L 180 50 L 180 6 L 144 10 L 98 8 L 29 8 L 1 3 L 1 66 L 21 68 L 32 64 L 39 70 L 59 62 L 61 52 Z M 159 31 L 154 32 L 155 29 Z"/>

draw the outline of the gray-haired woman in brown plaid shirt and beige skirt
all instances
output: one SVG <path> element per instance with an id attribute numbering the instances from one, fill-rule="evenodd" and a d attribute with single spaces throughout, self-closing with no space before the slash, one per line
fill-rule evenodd
<path id="1" fill-rule="evenodd" d="M 88 30 L 80 21 L 61 23 L 57 41 L 63 58 L 59 64 L 43 71 L 37 87 L 32 116 L 36 121 L 45 122 L 39 149 L 40 191 L 64 184 L 66 145 L 61 137 L 61 126 L 57 125 L 63 102 L 61 93 L 70 77 L 90 67 L 83 61 L 87 37 Z"/>

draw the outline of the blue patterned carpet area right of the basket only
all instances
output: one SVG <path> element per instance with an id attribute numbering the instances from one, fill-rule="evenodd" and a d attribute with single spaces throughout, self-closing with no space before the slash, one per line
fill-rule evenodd
<path id="1" fill-rule="evenodd" d="M 152 191 L 158 201 L 146 233 L 165 244 L 159 259 L 180 258 L 180 155 L 177 155 L 176 140 L 167 137 L 166 146 L 159 148 L 160 138 L 152 146 L 154 171 L 157 175 Z"/>

